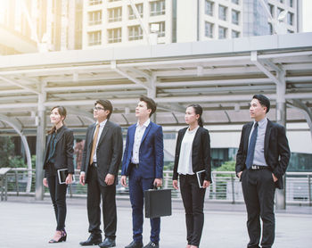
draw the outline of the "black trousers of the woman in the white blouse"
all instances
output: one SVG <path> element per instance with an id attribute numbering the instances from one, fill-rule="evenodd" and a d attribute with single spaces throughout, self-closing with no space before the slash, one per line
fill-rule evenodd
<path id="1" fill-rule="evenodd" d="M 206 189 L 198 186 L 196 175 L 179 175 L 179 177 L 185 206 L 187 244 L 199 246 L 204 222 L 203 203 Z"/>

